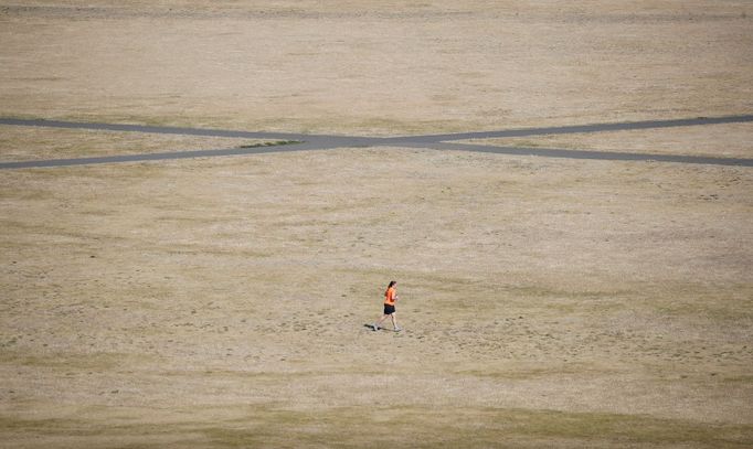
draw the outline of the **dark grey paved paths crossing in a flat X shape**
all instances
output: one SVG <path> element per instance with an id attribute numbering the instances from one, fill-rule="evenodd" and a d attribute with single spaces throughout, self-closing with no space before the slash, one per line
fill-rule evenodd
<path id="1" fill-rule="evenodd" d="M 678 162 L 698 163 L 713 165 L 742 165 L 753 167 L 753 159 L 740 158 L 712 158 L 681 154 L 647 154 L 632 152 L 611 152 L 611 151 L 586 151 L 586 150 L 565 150 L 553 148 L 523 148 L 523 147 L 498 147 L 473 143 L 457 143 L 453 140 L 468 139 L 489 139 L 503 137 L 523 137 L 542 135 L 564 135 L 564 133 L 585 133 L 604 132 L 619 130 L 638 130 L 653 128 L 689 127 L 717 124 L 734 124 L 753 121 L 753 115 L 725 116 L 725 117 L 698 117 L 674 120 L 646 120 L 646 121 L 624 121 L 611 124 L 575 125 L 549 128 L 522 128 L 500 131 L 479 131 L 479 132 L 458 132 L 445 135 L 426 136 L 404 136 L 404 137 L 351 137 L 351 136 L 327 136 L 327 135 L 304 135 L 288 132 L 252 132 L 233 131 L 223 129 L 201 129 L 201 128 L 177 128 L 177 127 L 153 127 L 139 125 L 117 125 L 98 122 L 77 122 L 77 121 L 56 121 L 43 119 L 13 119 L 0 118 L 0 125 L 30 126 L 46 128 L 68 128 L 68 129 L 91 129 L 106 131 L 127 131 L 127 132 L 150 132 L 168 133 L 182 136 L 206 136 L 206 137 L 227 137 L 245 139 L 282 139 L 296 140 L 300 143 L 256 147 L 256 148 L 230 148 L 219 150 L 200 151 L 177 151 L 177 152 L 156 152 L 145 154 L 109 156 L 96 158 L 77 159 L 51 159 L 22 162 L 0 162 L 0 169 L 22 169 L 41 167 L 64 167 L 84 165 L 95 163 L 115 162 L 138 162 L 157 161 L 170 159 L 208 158 L 221 156 L 242 156 L 258 154 L 265 152 L 303 151 L 303 150 L 326 150 L 335 148 L 362 148 L 362 147 L 410 147 L 426 148 L 435 150 L 455 150 L 490 152 L 499 154 L 516 156 L 538 156 L 543 158 L 569 158 L 569 159 L 595 159 L 595 160 L 619 160 L 619 161 L 657 161 L 657 162 Z"/>

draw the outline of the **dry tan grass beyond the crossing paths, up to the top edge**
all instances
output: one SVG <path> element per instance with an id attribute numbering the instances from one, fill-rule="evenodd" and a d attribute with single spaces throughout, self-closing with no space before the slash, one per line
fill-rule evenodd
<path id="1" fill-rule="evenodd" d="M 753 109 L 746 1 L 18 3 L 2 116 L 400 135 Z"/>

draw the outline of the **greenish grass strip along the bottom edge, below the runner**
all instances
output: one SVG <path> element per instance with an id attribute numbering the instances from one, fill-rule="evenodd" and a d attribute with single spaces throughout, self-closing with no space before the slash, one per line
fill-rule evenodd
<path id="1" fill-rule="evenodd" d="M 717 425 L 643 415 L 565 413 L 511 408 L 332 407 L 290 410 L 269 405 L 185 410 L 183 419 L 155 425 L 149 410 L 128 409 L 115 419 L 116 407 L 93 418 L 25 419 L 0 416 L 0 431 L 14 435 L 158 438 L 187 436 L 201 447 L 385 447 L 420 448 L 541 447 L 558 443 L 621 447 L 689 445 L 743 448 L 753 441 L 753 426 Z M 176 410 L 172 410 L 176 411 Z M 139 415 L 142 417 L 139 418 Z M 108 418 L 109 416 L 109 418 Z M 187 420 L 188 419 L 188 420 Z M 385 431 L 384 429 L 390 429 Z M 85 441 L 85 440 L 79 440 Z M 146 442 L 146 441 L 145 441 Z"/>

